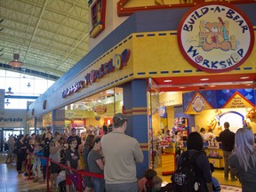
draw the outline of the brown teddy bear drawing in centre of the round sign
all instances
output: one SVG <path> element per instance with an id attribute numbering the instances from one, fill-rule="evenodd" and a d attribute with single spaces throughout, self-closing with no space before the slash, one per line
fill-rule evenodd
<path id="1" fill-rule="evenodd" d="M 210 52 L 213 49 L 222 51 L 236 50 L 236 36 L 229 35 L 228 21 L 218 17 L 219 22 L 200 21 L 199 24 L 199 46 L 205 52 Z"/>

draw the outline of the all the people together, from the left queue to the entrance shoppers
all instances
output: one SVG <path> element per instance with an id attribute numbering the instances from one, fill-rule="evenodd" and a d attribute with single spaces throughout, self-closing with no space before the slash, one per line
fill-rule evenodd
<path id="1" fill-rule="evenodd" d="M 65 164 L 71 169 L 63 170 L 58 164 L 51 161 L 50 177 L 51 189 L 60 188 L 60 181 L 64 181 L 66 191 L 77 190 L 73 185 L 72 170 L 84 170 L 103 177 L 84 176 L 82 188 L 85 192 L 145 192 L 145 191 L 179 191 L 172 185 L 168 188 L 161 186 L 163 180 L 157 176 L 155 170 L 146 170 L 144 176 L 136 178 L 136 164 L 143 162 L 143 153 L 138 140 L 125 134 L 128 119 L 122 113 L 113 117 L 111 130 L 103 125 L 97 132 L 86 132 L 78 135 L 76 128 L 65 132 L 45 132 L 43 135 L 20 135 L 17 138 L 10 136 L 8 140 L 9 151 L 6 163 L 12 162 L 13 153 L 17 156 L 17 172 L 27 168 L 28 161 L 33 162 L 32 172 L 35 182 L 45 182 L 46 160 L 49 157 L 54 162 Z M 220 132 L 219 140 L 222 142 L 225 170 L 224 177 L 228 180 L 230 171 L 231 180 L 238 178 L 242 183 L 243 191 L 256 191 L 256 148 L 252 129 L 241 128 L 236 133 L 229 130 L 229 124 L 224 124 L 225 130 Z M 100 132 L 101 130 L 101 132 Z M 196 156 L 196 175 L 200 178 L 199 191 L 220 191 L 220 183 L 212 177 L 214 167 L 209 163 L 204 151 L 204 136 L 199 132 L 190 132 L 187 140 L 187 151 L 184 154 Z M 201 153 L 202 152 L 202 153 Z M 40 158 L 42 156 L 43 158 Z M 177 170 L 180 168 L 183 155 L 177 159 Z M 43 177 L 41 175 L 43 171 Z M 26 171 L 26 170 L 25 170 Z M 61 172 L 61 175 L 60 175 Z M 60 177 L 62 180 L 60 180 Z M 76 177 L 77 179 L 77 177 Z M 73 183 L 73 184 L 72 184 Z M 63 184 L 63 182 L 62 182 Z"/>

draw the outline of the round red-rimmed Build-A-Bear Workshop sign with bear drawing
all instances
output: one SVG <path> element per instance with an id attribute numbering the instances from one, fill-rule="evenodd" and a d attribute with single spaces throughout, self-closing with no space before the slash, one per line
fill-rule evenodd
<path id="1" fill-rule="evenodd" d="M 181 19 L 178 43 L 195 68 L 222 73 L 239 67 L 249 57 L 254 32 L 250 20 L 234 5 L 204 3 Z"/>

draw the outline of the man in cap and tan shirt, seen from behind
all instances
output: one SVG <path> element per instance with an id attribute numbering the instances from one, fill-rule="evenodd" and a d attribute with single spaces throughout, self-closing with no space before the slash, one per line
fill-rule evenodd
<path id="1" fill-rule="evenodd" d="M 143 161 L 138 140 L 126 135 L 127 116 L 113 117 L 113 131 L 101 139 L 105 156 L 104 177 L 107 192 L 137 192 L 136 163 Z"/>

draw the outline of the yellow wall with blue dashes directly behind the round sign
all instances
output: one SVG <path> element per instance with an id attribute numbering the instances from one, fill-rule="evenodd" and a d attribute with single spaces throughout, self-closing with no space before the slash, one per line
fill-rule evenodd
<path id="1" fill-rule="evenodd" d="M 183 57 L 180 48 L 177 44 L 177 36 L 171 35 L 177 31 L 159 31 L 150 33 L 138 33 L 132 36 L 133 43 L 133 73 L 135 78 L 148 78 L 148 76 L 216 76 L 220 73 L 206 73 L 196 71 L 191 64 Z M 255 34 L 256 32 L 254 32 Z M 148 36 L 150 34 L 150 36 Z M 159 36 L 166 34 L 166 36 Z M 140 35 L 136 37 L 136 35 Z M 155 35 L 153 37 L 153 35 Z M 254 42 L 252 52 L 256 52 L 256 41 Z M 138 65 L 137 65 L 138 64 Z M 140 64 L 140 65 L 139 65 Z M 244 69 L 245 68 L 245 69 Z M 248 69 L 252 68 L 252 69 Z M 180 71 L 180 73 L 172 73 L 172 71 Z M 186 73 L 186 70 L 191 70 L 191 73 Z M 156 72 L 149 74 L 149 72 Z M 169 73 L 162 74 L 161 71 Z M 139 75 L 138 73 L 145 73 Z M 225 74 L 250 74 L 255 73 L 255 55 L 251 54 L 249 58 L 241 66 L 240 70 L 231 70 Z"/>

